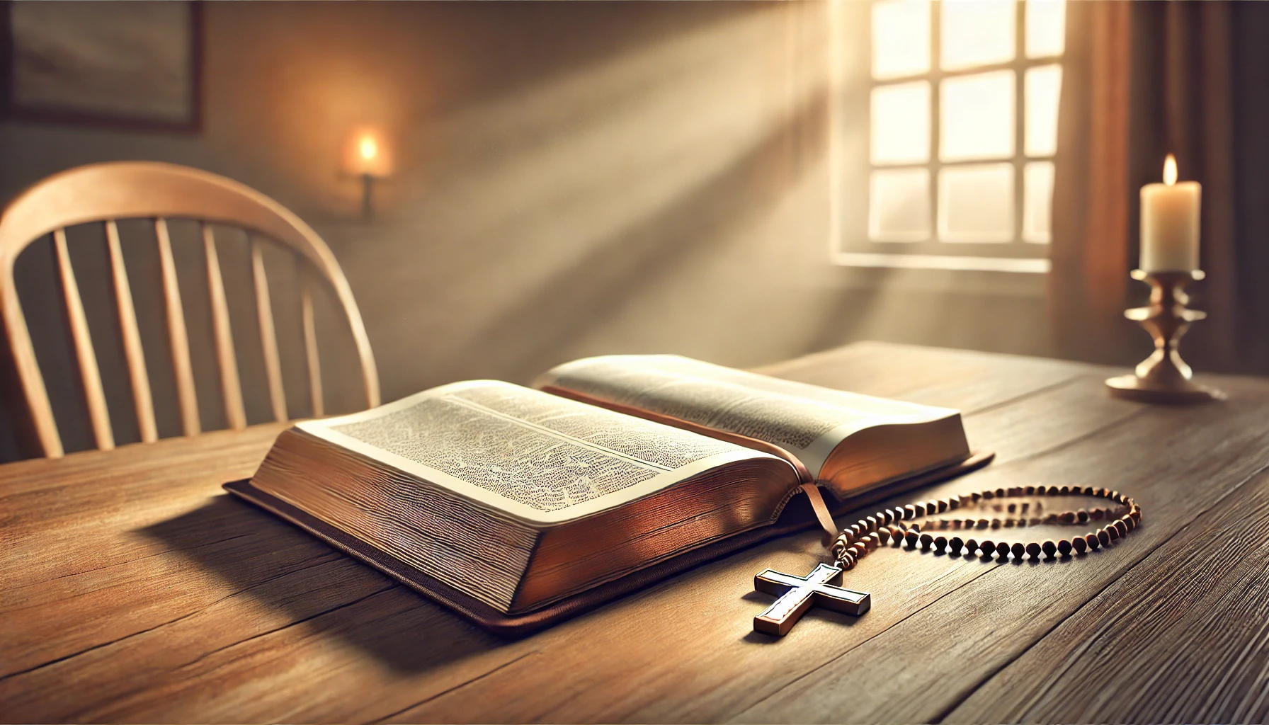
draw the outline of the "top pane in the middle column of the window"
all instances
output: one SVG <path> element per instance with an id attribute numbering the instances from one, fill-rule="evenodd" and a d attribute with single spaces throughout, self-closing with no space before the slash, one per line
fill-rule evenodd
<path id="1" fill-rule="evenodd" d="M 1014 0 L 944 0 L 942 66 L 967 69 L 1014 60 Z"/>

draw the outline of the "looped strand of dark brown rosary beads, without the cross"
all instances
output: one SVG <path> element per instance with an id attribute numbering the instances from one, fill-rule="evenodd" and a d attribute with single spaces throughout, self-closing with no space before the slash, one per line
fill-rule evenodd
<path id="1" fill-rule="evenodd" d="M 1043 513 L 1044 507 L 1041 502 L 1034 502 L 1034 507 L 1033 502 L 1024 502 L 1020 505 L 1015 503 L 1006 505 L 992 504 L 994 510 L 1019 514 L 1016 517 L 1006 515 L 1005 518 L 991 519 L 937 518 L 926 521 L 924 524 L 911 521 L 919 517 L 937 515 L 959 509 L 964 505 L 966 500 L 978 504 L 985 500 L 1004 498 L 1066 495 L 1086 495 L 1108 499 L 1119 507 L 1127 508 L 1127 513 L 1115 515 L 1115 510 L 1112 508 L 1093 508 L 1091 510 L 1080 508 L 1076 510 L 1049 512 L 1043 517 L 1028 517 L 1024 514 Z M 1034 510 L 1032 510 L 1032 508 L 1034 508 Z M 1056 542 L 1053 540 L 1029 541 L 1025 543 L 1009 543 L 1005 541 L 996 542 L 994 540 L 983 540 L 980 542 L 975 538 L 962 540 L 959 536 L 953 536 L 950 538 L 943 535 L 935 536 L 921 529 L 923 526 L 931 531 L 1024 528 L 1027 526 L 1038 524 L 1084 524 L 1090 521 L 1103 519 L 1107 519 L 1108 523 L 1096 531 L 1089 532 L 1084 536 L 1075 536 L 1070 540 L 1062 538 Z M 1093 486 L 1011 486 L 1009 489 L 987 489 L 971 494 L 948 496 L 944 499 L 931 499 L 929 502 L 879 510 L 872 515 L 860 518 L 849 527 L 843 528 L 838 537 L 834 538 L 830 549 L 838 565 L 846 570 L 853 569 L 860 559 L 878 547 L 902 546 L 904 543 L 906 543 L 909 549 L 934 549 L 938 552 L 947 551 L 949 554 L 961 554 L 963 551 L 966 556 L 978 554 L 983 557 L 997 555 L 1000 559 L 1005 559 L 1011 554 L 1013 557 L 1019 561 L 1023 556 L 1030 556 L 1032 560 L 1039 560 L 1042 555 L 1046 559 L 1057 559 L 1060 556 L 1079 556 L 1101 546 L 1110 546 L 1113 542 L 1128 536 L 1128 532 L 1137 528 L 1140 523 L 1141 507 L 1137 505 L 1133 499 L 1122 495 L 1119 491 L 1104 488 L 1095 489 Z"/>

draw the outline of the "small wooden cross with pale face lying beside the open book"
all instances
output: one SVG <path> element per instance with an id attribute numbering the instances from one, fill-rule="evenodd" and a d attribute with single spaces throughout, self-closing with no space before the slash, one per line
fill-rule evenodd
<path id="1" fill-rule="evenodd" d="M 754 589 L 775 594 L 779 599 L 754 617 L 754 631 L 783 637 L 812 604 L 859 616 L 872 606 L 867 592 L 851 592 L 841 583 L 841 568 L 821 564 L 806 576 L 780 574 L 768 569 L 754 576 Z"/>

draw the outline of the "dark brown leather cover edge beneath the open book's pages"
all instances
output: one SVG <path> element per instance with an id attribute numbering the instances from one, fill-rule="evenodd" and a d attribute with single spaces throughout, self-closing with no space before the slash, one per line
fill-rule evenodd
<path id="1" fill-rule="evenodd" d="M 970 471 L 981 469 L 991 462 L 995 453 L 973 453 L 970 458 L 926 471 L 907 479 L 892 481 L 884 486 L 878 486 L 862 491 L 844 502 L 829 500 L 834 515 L 859 509 L 868 504 L 879 502 L 892 495 L 943 481 Z M 777 536 L 786 536 L 797 531 L 811 528 L 816 524 L 816 518 L 806 496 L 794 496 L 784 508 L 780 518 L 772 526 L 750 529 L 728 538 L 707 543 L 698 549 L 687 551 L 670 560 L 640 569 L 621 579 L 608 582 L 593 589 L 588 589 L 566 599 L 555 602 L 541 609 L 518 615 L 505 615 L 489 604 L 480 602 L 448 584 L 428 576 L 423 571 L 410 566 L 398 559 L 367 545 L 365 542 L 349 536 L 329 523 L 317 519 L 298 508 L 266 494 L 251 485 L 249 479 L 225 484 L 225 489 L 231 494 L 241 496 L 266 510 L 270 510 L 299 528 L 312 533 L 322 541 L 330 543 L 346 554 L 382 570 L 385 574 L 416 589 L 421 594 L 445 604 L 456 612 L 466 616 L 473 622 L 508 637 L 519 637 L 548 627 L 561 620 L 594 609 L 612 599 L 626 595 L 636 589 L 673 576 L 680 571 L 711 561 L 733 551 L 739 551 L 758 542 L 766 541 Z"/>

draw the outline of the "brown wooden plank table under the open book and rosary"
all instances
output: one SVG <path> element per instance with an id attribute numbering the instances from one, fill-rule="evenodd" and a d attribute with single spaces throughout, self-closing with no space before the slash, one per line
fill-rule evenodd
<path id="1" fill-rule="evenodd" d="M 277 427 L 0 467 L 5 721 L 1265 721 L 1269 381 L 1112 400 L 1114 371 L 857 344 L 769 372 L 966 414 L 997 461 L 923 494 L 1136 496 L 1109 550 L 995 562 L 886 550 L 859 618 L 750 631 L 775 540 L 519 641 L 231 499 Z"/>

